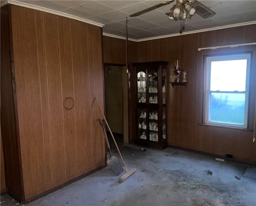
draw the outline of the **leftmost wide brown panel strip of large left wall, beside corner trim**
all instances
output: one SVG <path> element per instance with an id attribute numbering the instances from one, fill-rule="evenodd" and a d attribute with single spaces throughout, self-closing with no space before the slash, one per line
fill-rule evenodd
<path id="1" fill-rule="evenodd" d="M 24 193 L 31 195 L 33 192 L 40 193 L 45 188 L 35 12 L 13 7 L 12 32 L 20 34 L 13 35 L 13 54 L 14 58 L 18 56 L 15 58 L 14 68 L 16 84 L 19 85 L 16 87 L 16 96 Z"/>

